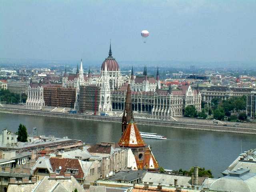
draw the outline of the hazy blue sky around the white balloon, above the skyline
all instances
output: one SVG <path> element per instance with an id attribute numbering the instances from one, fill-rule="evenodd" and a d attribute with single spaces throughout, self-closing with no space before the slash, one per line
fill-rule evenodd
<path id="1" fill-rule="evenodd" d="M 0 0 L 0 58 L 103 60 L 110 38 L 120 61 L 256 61 L 256 0 Z"/>

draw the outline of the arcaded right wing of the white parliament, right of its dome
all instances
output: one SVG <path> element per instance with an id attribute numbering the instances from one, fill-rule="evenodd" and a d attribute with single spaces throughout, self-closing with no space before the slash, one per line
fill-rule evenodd
<path id="1" fill-rule="evenodd" d="M 124 110 L 125 94 L 124 90 L 111 93 L 112 110 Z M 201 95 L 189 85 L 175 90 L 169 86 L 165 90 L 156 88 L 155 92 L 132 91 L 131 94 L 132 110 L 155 118 L 182 116 L 188 105 L 194 105 L 197 111 L 201 110 Z"/>

